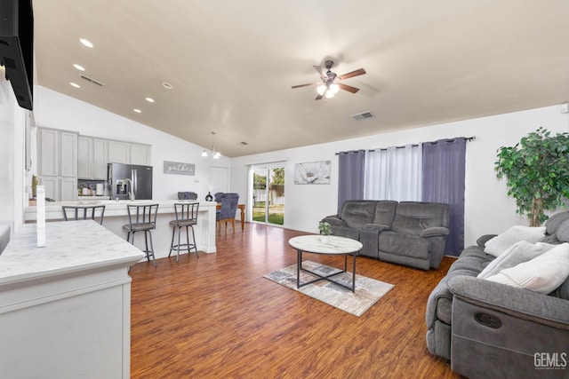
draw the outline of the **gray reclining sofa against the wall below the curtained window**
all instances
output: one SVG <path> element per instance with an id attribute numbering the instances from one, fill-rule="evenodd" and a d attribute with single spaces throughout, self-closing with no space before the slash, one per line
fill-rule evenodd
<path id="1" fill-rule="evenodd" d="M 448 205 L 421 201 L 345 201 L 325 217 L 333 235 L 362 242 L 359 255 L 422 270 L 437 269 L 445 253 Z"/>

